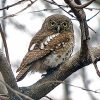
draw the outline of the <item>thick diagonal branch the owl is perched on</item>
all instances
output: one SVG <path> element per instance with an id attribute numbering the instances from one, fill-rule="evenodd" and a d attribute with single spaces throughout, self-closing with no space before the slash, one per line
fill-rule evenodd
<path id="1" fill-rule="evenodd" d="M 96 60 L 99 61 L 100 46 L 90 49 L 93 52 Z M 85 57 L 80 57 L 80 52 L 81 51 L 78 51 L 76 54 L 74 54 L 68 61 L 61 65 L 60 68 L 51 75 L 40 79 L 38 82 L 29 87 L 21 87 L 20 90 L 22 93 L 30 96 L 35 100 L 38 100 L 48 94 L 75 71 L 91 64 L 92 60 L 90 55 L 88 55 L 88 58 L 86 59 Z"/>

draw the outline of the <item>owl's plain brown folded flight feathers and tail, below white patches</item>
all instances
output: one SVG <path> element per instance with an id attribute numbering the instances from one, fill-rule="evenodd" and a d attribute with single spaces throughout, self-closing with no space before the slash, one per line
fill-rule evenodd
<path id="1" fill-rule="evenodd" d="M 16 71 L 16 72 L 19 72 L 18 75 L 16 76 L 16 80 L 17 81 L 22 80 L 26 76 L 29 69 L 31 68 L 31 66 L 29 66 L 29 65 L 31 63 L 33 63 L 34 61 L 44 57 L 48 53 L 50 53 L 50 50 L 47 50 L 47 49 L 46 50 L 32 50 L 32 51 L 29 51 L 25 55 L 20 67 Z"/>

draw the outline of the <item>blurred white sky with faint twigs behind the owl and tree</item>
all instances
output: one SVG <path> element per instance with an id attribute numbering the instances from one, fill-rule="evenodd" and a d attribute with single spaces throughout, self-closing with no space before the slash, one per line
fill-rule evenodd
<path id="1" fill-rule="evenodd" d="M 34 1 L 34 0 L 33 0 Z M 52 0 L 48 0 L 52 2 Z M 85 3 L 88 0 L 81 0 Z M 18 0 L 0 0 L 0 8 L 12 5 Z M 58 5 L 67 12 L 70 8 L 65 7 L 63 0 L 55 0 Z M 0 10 L 0 23 L 8 45 L 9 57 L 14 75 L 19 67 L 24 55 L 28 51 L 31 38 L 41 28 L 44 19 L 52 14 L 64 14 L 72 19 L 74 25 L 75 47 L 74 52 L 80 49 L 80 27 L 79 22 L 68 13 L 60 9 L 57 5 L 50 4 L 44 0 L 37 0 L 30 7 L 30 0 L 19 3 L 9 9 Z M 96 0 L 84 9 L 90 32 L 90 42 L 92 46 L 100 44 L 100 0 Z M 73 13 L 70 13 L 73 15 Z M 73 15 L 74 16 L 74 15 Z M 0 37 L 0 49 L 4 51 L 2 38 Z M 100 63 L 98 62 L 98 67 Z M 99 68 L 100 69 L 100 68 Z M 29 73 L 19 86 L 29 86 L 41 78 L 40 73 Z M 88 91 L 91 90 L 91 91 Z M 94 91 L 94 92 L 93 92 Z M 98 93 L 95 93 L 98 92 Z M 53 100 L 100 100 L 100 78 L 97 76 L 93 65 L 86 66 L 68 77 L 64 83 L 57 86 L 47 96 Z M 42 98 L 41 100 L 48 100 Z"/>

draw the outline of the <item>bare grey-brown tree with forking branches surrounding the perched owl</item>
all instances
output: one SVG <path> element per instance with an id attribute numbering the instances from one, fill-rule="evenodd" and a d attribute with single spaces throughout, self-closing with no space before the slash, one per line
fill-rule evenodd
<path id="1" fill-rule="evenodd" d="M 21 9 L 20 11 L 11 15 L 2 16 L 1 18 L 6 19 L 8 17 L 17 16 L 19 13 L 31 7 L 36 1 L 38 0 L 34 0 L 34 1 L 20 0 L 14 4 L 4 6 L 0 8 L 1 11 L 7 10 L 10 7 L 14 7 L 24 2 L 28 2 L 28 5 L 25 8 Z M 40 98 L 48 94 L 51 90 L 53 90 L 56 86 L 61 84 L 68 76 L 73 74 L 75 71 L 91 63 L 93 63 L 98 76 L 100 76 L 100 72 L 96 64 L 100 60 L 100 46 L 92 47 L 90 45 L 89 27 L 86 21 L 86 14 L 84 12 L 84 8 L 90 5 L 91 3 L 93 3 L 93 1 L 95 0 L 89 0 L 87 1 L 87 3 L 81 4 L 80 0 L 64 0 L 66 4 L 64 7 L 71 8 L 70 12 L 74 13 L 74 15 L 72 15 L 70 12 L 67 12 L 63 8 L 63 5 L 57 4 L 57 2 L 55 2 L 54 0 L 51 0 L 51 1 L 44 0 L 44 2 L 48 3 L 49 5 L 50 4 L 57 5 L 58 9 L 65 11 L 70 16 L 74 17 L 75 19 L 79 21 L 80 30 L 81 30 L 81 48 L 68 61 L 62 64 L 60 68 L 56 70 L 52 75 L 43 77 L 42 79 L 37 81 L 35 84 L 32 84 L 31 86 L 18 87 L 14 74 L 11 70 L 7 46 L 5 46 L 5 49 L 6 49 L 5 51 L 7 54 L 6 57 L 4 56 L 3 52 L 0 50 L 0 71 L 2 73 L 2 76 L 5 82 L 3 81 L 0 81 L 0 82 L 4 84 L 7 88 L 7 91 L 8 91 L 7 98 L 10 98 L 10 100 L 23 100 L 23 99 L 24 100 L 39 100 Z M 0 32 L 3 35 L 5 33 L 2 27 L 0 27 Z M 2 38 L 3 40 L 5 40 L 4 36 Z M 4 44 L 6 45 L 6 42 L 4 42 Z M 3 98 L 2 96 L 4 97 L 4 95 L 1 95 L 1 98 Z"/>

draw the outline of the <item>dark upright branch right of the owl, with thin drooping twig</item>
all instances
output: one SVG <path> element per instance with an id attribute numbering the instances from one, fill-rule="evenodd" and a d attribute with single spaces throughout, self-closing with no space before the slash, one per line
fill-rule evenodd
<path id="1" fill-rule="evenodd" d="M 95 57 L 94 55 L 92 54 L 91 50 L 89 49 L 91 47 L 90 43 L 89 43 L 89 30 L 88 30 L 88 25 L 87 25 L 87 21 L 86 21 L 86 14 L 84 12 L 84 10 L 81 8 L 81 9 L 78 9 L 78 8 L 75 8 L 73 6 L 73 3 L 72 1 L 70 0 L 64 0 L 68 5 L 69 7 L 71 7 L 73 13 L 75 14 L 75 16 L 77 17 L 79 23 L 80 23 L 80 29 L 81 29 L 81 56 L 86 56 L 88 55 L 88 53 L 90 54 L 91 56 L 91 59 L 92 59 L 92 63 L 96 69 L 96 72 L 98 74 L 98 76 L 100 76 L 100 71 L 98 70 L 98 67 L 95 63 Z M 81 5 L 81 2 L 80 0 L 74 0 L 75 3 L 77 5 Z M 93 0 L 91 0 L 93 1 Z"/>

